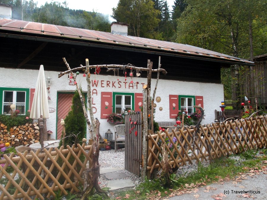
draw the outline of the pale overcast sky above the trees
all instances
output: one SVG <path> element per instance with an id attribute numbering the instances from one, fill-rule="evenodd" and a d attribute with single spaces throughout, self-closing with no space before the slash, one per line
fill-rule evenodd
<path id="1" fill-rule="evenodd" d="M 45 2 L 53 2 L 53 0 L 34 0 L 37 2 L 37 6 L 40 7 L 44 5 Z M 58 2 L 63 2 L 64 0 L 58 0 Z M 112 15 L 112 8 L 117 7 L 119 0 L 66 0 L 69 9 L 75 10 L 86 10 L 86 11 L 95 11 L 100 12 L 107 15 Z M 172 10 L 172 5 L 174 4 L 174 0 L 167 0 L 169 5 L 169 10 Z M 111 20 L 112 21 L 112 20 Z"/>

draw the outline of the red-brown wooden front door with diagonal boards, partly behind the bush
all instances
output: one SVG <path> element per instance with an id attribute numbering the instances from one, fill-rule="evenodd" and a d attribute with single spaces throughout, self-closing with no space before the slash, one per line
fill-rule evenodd
<path id="1" fill-rule="evenodd" d="M 74 94 L 58 94 L 58 110 L 57 110 L 57 140 L 62 135 L 62 125 L 60 124 L 61 119 L 65 119 L 68 112 L 71 110 L 72 97 Z"/>

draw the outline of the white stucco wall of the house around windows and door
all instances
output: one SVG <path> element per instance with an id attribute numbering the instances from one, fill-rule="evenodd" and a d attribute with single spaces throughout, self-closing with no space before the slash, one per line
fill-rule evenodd
<path id="1" fill-rule="evenodd" d="M 45 66 L 44 66 L 45 67 Z M 9 69 L 9 68 L 0 68 L 0 74 L 4 77 L 1 82 L 0 87 L 20 87 L 20 88 L 35 88 L 37 76 L 39 70 L 25 70 L 25 69 Z M 91 79 L 95 79 L 95 75 L 91 72 Z M 59 72 L 55 71 L 45 71 L 45 77 L 50 76 L 52 78 L 50 84 L 50 97 L 51 100 L 48 100 L 48 105 L 50 108 L 57 108 L 57 92 L 74 92 L 76 87 L 69 85 L 68 75 L 64 75 L 61 78 L 58 78 Z M 146 76 L 146 73 L 141 75 L 142 77 Z M 160 74 L 160 76 L 164 76 Z M 138 87 L 132 89 L 128 87 L 128 84 L 123 83 L 125 77 L 119 77 L 119 81 L 122 81 L 120 88 L 118 88 L 118 77 L 117 76 L 103 76 L 96 75 L 96 80 L 98 80 L 98 87 L 91 87 L 92 89 L 97 89 L 97 95 L 93 95 L 93 103 L 97 109 L 95 118 L 98 118 L 100 121 L 100 134 L 104 136 L 104 132 L 107 132 L 110 129 L 114 133 L 113 125 L 109 124 L 106 119 L 100 119 L 101 111 L 101 92 L 139 92 L 142 93 L 142 84 L 146 83 L 146 78 L 134 79 L 134 82 L 138 81 Z M 103 80 L 101 87 L 101 80 Z M 115 87 L 107 87 L 107 81 L 110 81 L 112 86 L 112 81 L 115 81 Z M 127 77 L 127 81 L 130 82 L 130 78 Z M 82 90 L 87 91 L 86 78 L 82 76 L 82 73 L 77 76 L 77 83 L 82 85 Z M 151 96 L 155 87 L 155 80 L 152 80 L 151 83 Z M 210 123 L 214 121 L 215 114 L 214 110 L 219 109 L 221 101 L 224 99 L 223 96 L 223 85 L 222 84 L 213 84 L 213 83 L 196 83 L 196 82 L 187 82 L 187 81 L 173 81 L 173 80 L 159 80 L 156 96 L 161 97 L 161 102 L 157 103 L 155 121 L 175 121 L 175 119 L 169 118 L 169 95 L 197 95 L 203 96 L 204 108 L 205 108 L 205 119 L 202 121 L 204 123 Z M 162 107 L 163 110 L 159 111 L 159 107 Z M 31 108 L 30 108 L 31 109 Z M 89 113 L 88 113 L 89 114 Z M 52 130 L 52 138 L 55 138 L 56 133 L 56 111 L 50 113 L 50 118 L 47 119 L 47 130 Z M 113 134 L 114 137 L 114 134 Z M 89 136 L 87 136 L 89 138 Z"/>

